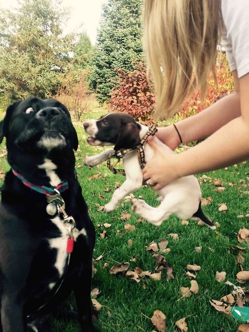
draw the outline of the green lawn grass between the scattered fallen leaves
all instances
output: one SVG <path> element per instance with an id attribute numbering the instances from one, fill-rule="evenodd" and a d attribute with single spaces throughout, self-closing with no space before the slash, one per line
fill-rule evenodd
<path id="1" fill-rule="evenodd" d="M 92 116 L 99 117 L 103 111 L 96 111 Z M 87 114 L 90 115 L 90 114 Z M 89 207 L 89 214 L 96 227 L 96 247 L 94 258 L 103 255 L 95 267 L 97 272 L 93 277 L 93 288 L 97 287 L 101 293 L 97 300 L 102 304 L 96 326 L 102 332 L 151 332 L 156 330 L 150 318 L 155 310 L 161 310 L 167 317 L 167 332 L 175 331 L 175 322 L 187 317 L 186 322 L 189 332 L 235 332 L 240 322 L 232 317 L 226 317 L 210 305 L 211 299 L 219 300 L 222 296 L 232 292 L 231 287 L 216 281 L 216 271 L 226 271 L 227 280 L 236 282 L 236 274 L 240 271 L 236 265 L 236 256 L 239 250 L 232 250 L 240 244 L 237 233 L 242 227 L 249 227 L 249 219 L 245 216 L 249 213 L 248 195 L 249 189 L 242 185 L 248 184 L 249 163 L 238 164 L 227 170 L 206 173 L 212 179 L 220 179 L 226 190 L 222 193 L 215 191 L 215 185 L 207 181 L 201 185 L 204 198 L 212 197 L 210 205 L 203 208 L 205 214 L 214 222 L 218 221 L 218 231 L 212 231 L 208 227 L 202 227 L 197 221 L 190 221 L 183 226 L 181 221 L 172 216 L 164 221 L 161 226 L 155 227 L 146 222 L 139 222 L 139 218 L 130 211 L 130 203 L 123 204 L 113 213 L 99 212 L 99 206 L 104 206 L 111 199 L 115 190 L 115 183 L 123 183 L 124 177 L 112 174 L 106 163 L 101 167 L 89 169 L 83 165 L 83 159 L 87 155 L 99 153 L 103 148 L 91 147 L 86 142 L 86 134 L 81 125 L 76 125 L 80 149 L 76 152 L 76 170 L 82 186 L 83 196 Z M 0 155 L 4 152 L 1 146 Z M 9 167 L 5 157 L 0 157 L 0 165 L 6 171 Z M 0 169 L 1 170 L 1 169 Z M 100 173 L 97 179 L 91 176 Z M 107 177 L 105 174 L 108 174 Z M 200 178 L 201 175 L 198 176 Z M 245 180 L 246 182 L 240 182 Z M 230 182 L 236 183 L 230 187 Z M 110 192 L 105 189 L 110 188 Z M 239 188 L 239 189 L 238 189 Z M 102 200 L 99 193 L 104 197 Z M 135 197 L 142 198 L 149 204 L 156 206 L 156 194 L 148 189 L 141 188 L 134 193 Z M 228 211 L 219 212 L 219 204 L 226 203 Z M 127 221 L 121 220 L 122 213 L 129 213 L 131 217 Z M 238 218 L 243 215 L 244 218 Z M 135 231 L 125 232 L 124 224 L 129 222 L 135 225 Z M 111 223 L 110 228 L 105 228 L 104 223 Z M 106 236 L 100 234 L 106 230 Z M 117 231 L 122 231 L 118 235 Z M 178 233 L 179 239 L 173 241 L 169 233 Z M 166 281 L 165 271 L 162 272 L 160 281 L 152 281 L 148 277 L 139 283 L 128 279 L 124 275 L 115 276 L 109 273 L 110 268 L 117 263 L 130 263 L 130 270 L 136 266 L 142 270 L 155 271 L 156 263 L 145 247 L 151 242 L 159 242 L 162 238 L 169 241 L 169 254 L 165 254 L 166 261 L 173 267 L 174 280 Z M 128 239 L 132 245 L 128 245 Z M 249 269 L 248 245 L 244 250 L 244 270 Z M 202 246 L 202 251 L 197 253 L 196 246 Z M 131 261 L 135 256 L 136 261 Z M 104 264 L 108 267 L 105 268 Z M 198 264 L 201 270 L 197 272 L 196 281 L 199 292 L 192 294 L 187 299 L 182 299 L 179 293 L 180 287 L 190 287 L 190 279 L 185 276 L 187 264 Z M 248 287 L 248 285 L 247 285 Z M 74 306 L 73 297 L 70 303 Z M 80 332 L 76 322 L 60 322 L 53 320 L 53 332 Z"/>

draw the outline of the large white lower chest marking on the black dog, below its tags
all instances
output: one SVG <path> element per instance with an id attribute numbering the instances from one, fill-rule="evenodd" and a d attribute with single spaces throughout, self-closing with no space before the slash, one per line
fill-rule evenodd
<path id="1" fill-rule="evenodd" d="M 65 269 L 66 263 L 67 263 L 67 240 L 68 240 L 68 230 L 64 227 L 61 219 L 59 217 L 55 217 L 51 219 L 51 221 L 59 228 L 61 231 L 61 236 L 52 238 L 49 240 L 49 244 L 51 248 L 57 249 L 57 257 L 54 266 L 58 270 L 60 276 L 62 276 L 63 271 Z M 85 235 L 87 236 L 87 232 L 85 228 L 82 228 L 80 231 L 77 228 L 73 229 L 73 237 L 76 241 L 77 237 L 79 235 Z M 50 284 L 49 287 L 53 288 L 53 284 Z"/>

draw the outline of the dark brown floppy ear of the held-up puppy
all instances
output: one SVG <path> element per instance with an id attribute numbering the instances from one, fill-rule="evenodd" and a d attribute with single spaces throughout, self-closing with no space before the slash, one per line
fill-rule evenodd
<path id="1" fill-rule="evenodd" d="M 140 125 L 139 123 L 125 123 L 115 144 L 114 149 L 129 149 L 135 147 L 140 142 Z"/>

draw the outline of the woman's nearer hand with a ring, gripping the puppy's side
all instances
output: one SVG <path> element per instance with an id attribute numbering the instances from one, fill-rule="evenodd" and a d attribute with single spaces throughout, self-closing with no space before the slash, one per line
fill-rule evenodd
<path id="1" fill-rule="evenodd" d="M 181 177 L 178 171 L 177 154 L 159 144 L 152 136 L 148 137 L 147 142 L 153 149 L 154 155 L 142 169 L 143 180 L 150 179 L 150 182 L 153 183 L 151 188 L 159 190 Z"/>

